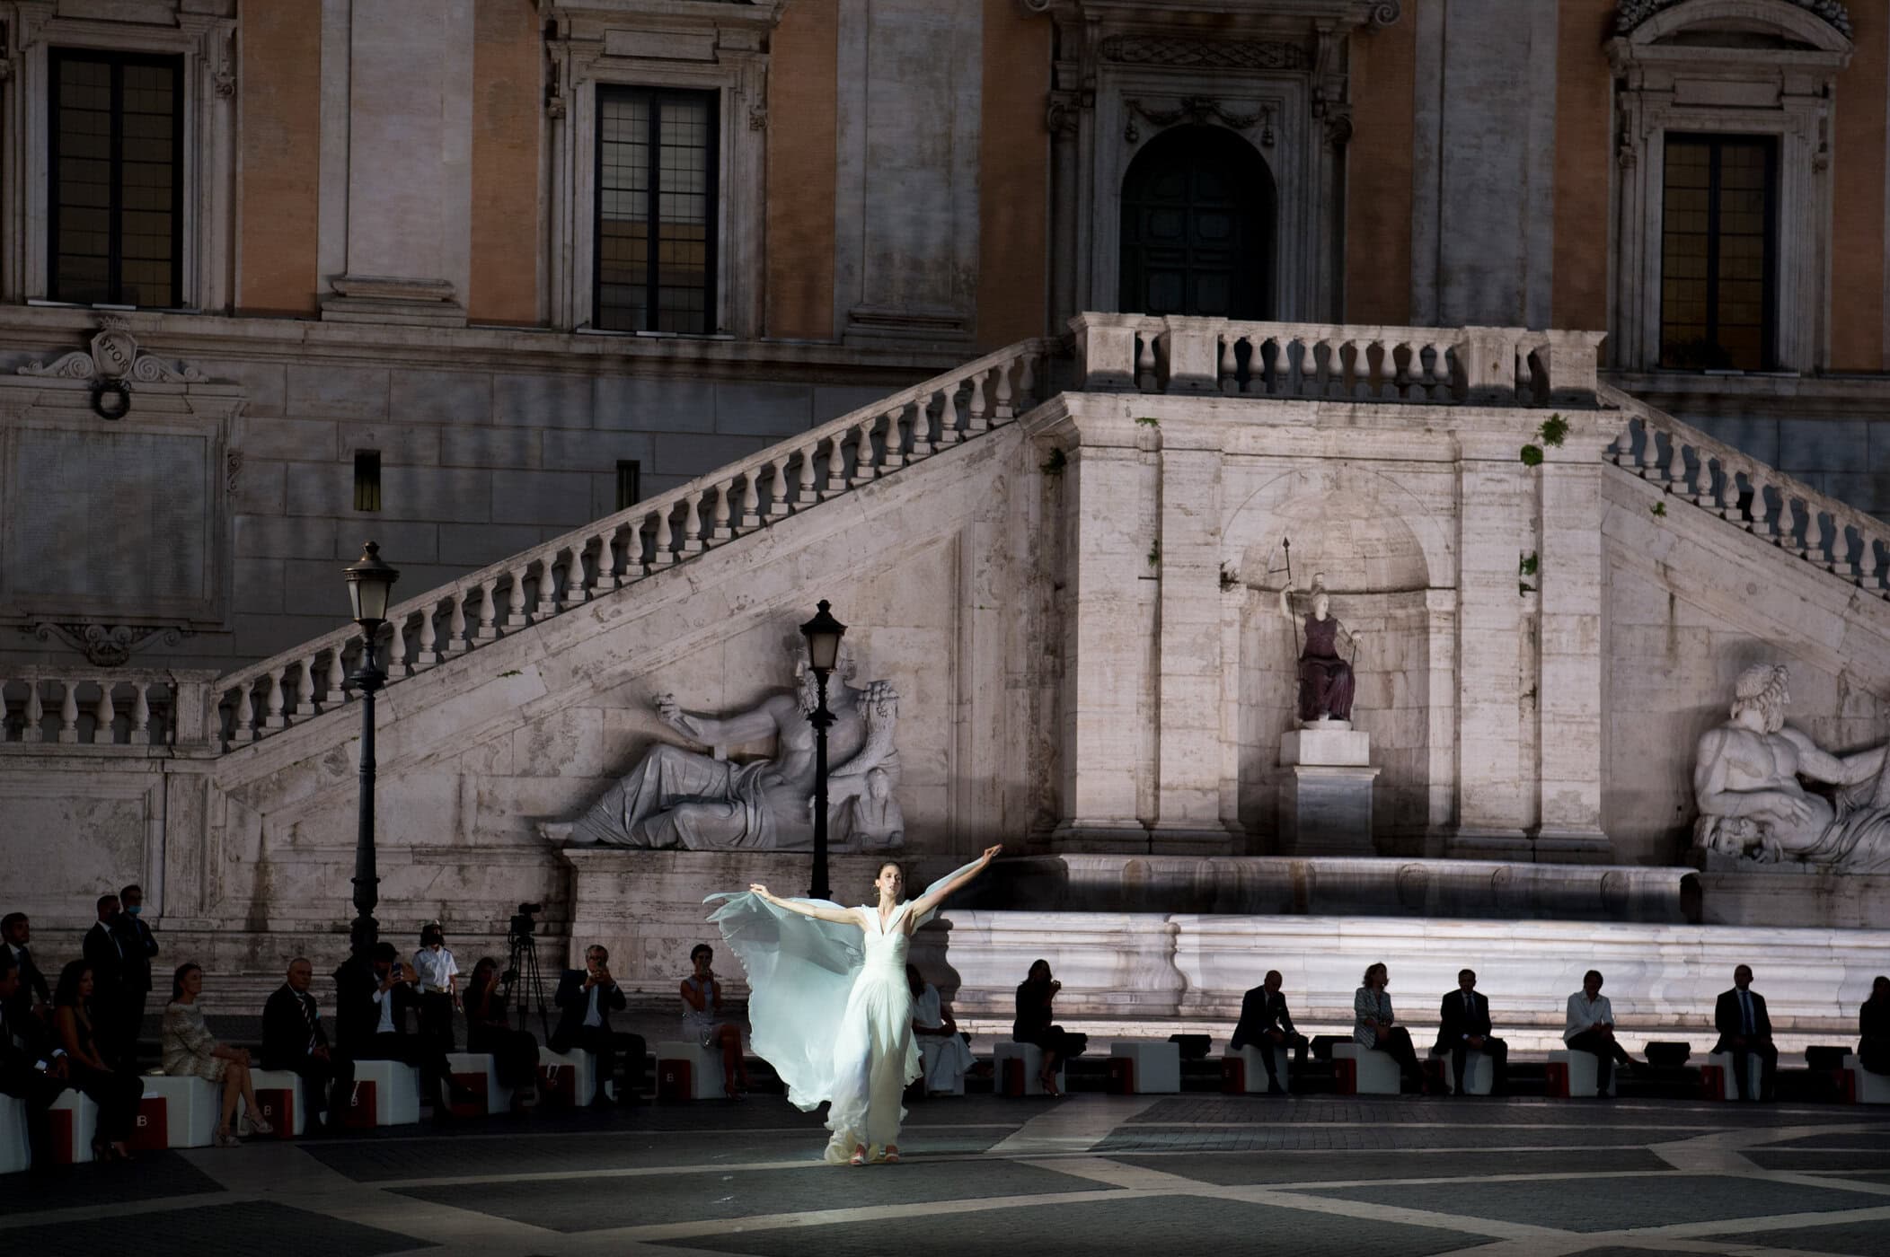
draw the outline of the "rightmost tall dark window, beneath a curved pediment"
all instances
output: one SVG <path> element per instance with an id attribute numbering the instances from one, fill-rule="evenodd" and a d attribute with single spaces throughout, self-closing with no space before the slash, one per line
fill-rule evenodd
<path id="1" fill-rule="evenodd" d="M 1773 365 L 1778 149 L 1758 136 L 1667 136 L 1663 367 Z"/>

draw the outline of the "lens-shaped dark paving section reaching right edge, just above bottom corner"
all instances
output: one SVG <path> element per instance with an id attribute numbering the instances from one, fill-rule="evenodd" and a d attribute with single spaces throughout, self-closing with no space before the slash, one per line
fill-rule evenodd
<path id="1" fill-rule="evenodd" d="M 1591 1183 L 1482 1183 L 1467 1193 L 1457 1183 L 1410 1187 L 1312 1189 L 1342 1200 L 1366 1200 L 1412 1210 L 1438 1210 L 1561 1231 L 1620 1231 L 1671 1227 L 1765 1214 L 1816 1214 L 1881 1204 L 1843 1189 L 1799 1187 L 1752 1178 L 1658 1174 Z M 1603 1204 L 1605 1202 L 1605 1204 Z M 1890 1238 L 1890 1234 L 1886 1234 Z"/>

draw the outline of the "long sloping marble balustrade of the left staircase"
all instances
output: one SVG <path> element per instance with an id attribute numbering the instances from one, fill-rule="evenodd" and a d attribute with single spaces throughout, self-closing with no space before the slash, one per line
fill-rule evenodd
<path id="1" fill-rule="evenodd" d="M 397 603 L 376 639 L 387 684 L 816 507 L 1009 423 L 1038 401 L 1053 340 L 1022 340 L 760 454 Z M 386 556 L 399 565 L 401 556 Z M 355 626 L 215 682 L 204 739 L 265 739 L 353 701 Z"/>

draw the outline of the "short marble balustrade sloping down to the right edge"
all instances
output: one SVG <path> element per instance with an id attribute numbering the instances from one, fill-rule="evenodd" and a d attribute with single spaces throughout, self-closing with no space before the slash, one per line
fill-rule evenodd
<path id="1" fill-rule="evenodd" d="M 1780 550 L 1890 599 L 1890 527 L 1612 386 L 1620 433 L 1605 457 Z"/>

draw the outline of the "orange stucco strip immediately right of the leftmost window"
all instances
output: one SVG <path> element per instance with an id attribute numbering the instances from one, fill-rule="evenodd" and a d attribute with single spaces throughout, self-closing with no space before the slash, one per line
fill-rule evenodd
<path id="1" fill-rule="evenodd" d="M 236 308 L 314 314 L 321 174 L 321 6 L 244 0 Z"/>

